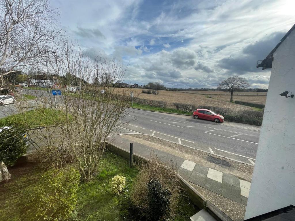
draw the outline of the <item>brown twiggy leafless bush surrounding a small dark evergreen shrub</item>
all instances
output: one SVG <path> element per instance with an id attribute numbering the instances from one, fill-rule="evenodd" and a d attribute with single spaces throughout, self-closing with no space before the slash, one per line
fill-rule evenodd
<path id="1" fill-rule="evenodd" d="M 158 180 L 161 187 L 167 189 L 166 196 L 169 195 L 170 209 L 166 211 L 165 216 L 175 215 L 181 187 L 173 162 L 162 162 L 158 156 L 151 154 L 149 161 L 140 164 L 140 171 L 131 191 L 132 204 L 139 210 L 140 216 L 150 217 L 150 211 L 153 209 L 153 202 L 150 202 L 151 196 L 148 190 L 148 183 L 153 179 Z M 171 195 L 168 194 L 168 191 Z"/>

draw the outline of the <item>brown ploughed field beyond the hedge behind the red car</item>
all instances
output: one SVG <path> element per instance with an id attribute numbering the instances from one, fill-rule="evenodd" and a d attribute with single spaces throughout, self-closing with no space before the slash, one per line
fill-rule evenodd
<path id="1" fill-rule="evenodd" d="M 173 105 L 173 103 L 186 103 L 186 104 L 194 104 L 196 106 L 206 105 L 206 106 L 230 108 L 234 111 L 253 110 L 253 108 L 248 106 L 230 103 L 229 102 L 230 94 L 224 93 L 222 91 L 189 91 L 184 93 L 184 92 L 178 92 L 178 91 L 160 90 L 159 95 L 153 95 L 153 94 L 142 93 L 141 88 L 115 88 L 115 92 L 117 93 L 120 93 L 122 91 L 125 91 L 126 93 L 126 90 L 133 91 L 133 94 L 135 97 L 150 99 L 150 100 L 165 101 L 169 104 L 171 108 L 175 108 L 175 105 Z M 194 93 L 194 92 L 199 92 L 202 94 Z M 213 95 L 214 93 L 216 95 Z M 237 94 L 242 94 L 242 95 L 235 95 L 235 93 L 233 97 L 234 100 L 265 104 L 266 93 L 263 93 L 263 92 L 259 93 L 259 94 L 262 94 L 263 96 L 257 96 L 256 92 L 237 92 Z M 212 98 L 209 98 L 209 96 Z"/>

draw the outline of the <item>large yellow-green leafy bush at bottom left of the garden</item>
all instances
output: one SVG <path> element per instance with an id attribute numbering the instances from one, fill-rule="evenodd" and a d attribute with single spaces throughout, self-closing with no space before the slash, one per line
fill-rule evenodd
<path id="1" fill-rule="evenodd" d="M 24 190 L 18 207 L 21 220 L 68 220 L 77 203 L 80 174 L 76 169 L 46 171 L 32 188 Z"/>

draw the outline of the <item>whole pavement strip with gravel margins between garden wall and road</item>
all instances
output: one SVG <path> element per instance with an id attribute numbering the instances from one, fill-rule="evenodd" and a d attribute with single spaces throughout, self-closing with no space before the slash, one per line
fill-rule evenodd
<path id="1" fill-rule="evenodd" d="M 244 219 L 253 166 L 143 134 L 119 135 L 112 143 L 126 151 L 133 143 L 133 152 L 147 159 L 154 151 L 162 160 L 172 160 L 197 192 L 232 220 Z"/>

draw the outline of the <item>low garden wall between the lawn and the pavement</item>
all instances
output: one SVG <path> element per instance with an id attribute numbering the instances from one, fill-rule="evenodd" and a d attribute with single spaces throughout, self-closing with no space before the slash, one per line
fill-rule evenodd
<path id="1" fill-rule="evenodd" d="M 112 143 L 108 143 L 107 145 L 109 151 L 112 151 L 115 154 L 123 156 L 126 159 L 129 159 L 130 152 L 126 151 Z M 133 154 L 133 160 L 137 163 L 142 163 L 145 161 L 149 161 L 149 159 L 140 156 L 138 154 Z M 183 179 L 179 174 L 177 174 L 181 181 L 181 187 L 184 189 L 185 193 L 188 194 L 191 201 L 199 207 L 199 209 L 205 209 L 207 212 L 212 215 L 218 221 L 232 221 L 230 217 L 228 217 L 224 212 L 219 210 L 214 204 L 209 202 L 204 196 L 202 196 L 199 192 L 194 189 L 185 179 Z"/>

